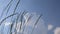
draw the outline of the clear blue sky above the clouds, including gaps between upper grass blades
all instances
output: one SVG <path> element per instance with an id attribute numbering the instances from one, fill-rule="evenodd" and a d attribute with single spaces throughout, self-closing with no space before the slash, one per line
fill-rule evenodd
<path id="1" fill-rule="evenodd" d="M 10 0 L 0 0 L 0 14 L 9 1 Z M 12 4 L 15 5 L 15 2 Z M 10 13 L 13 11 L 14 7 L 12 7 Z M 36 12 L 37 14 L 43 14 L 42 18 L 47 25 L 51 24 L 54 28 L 60 27 L 60 0 L 21 0 L 17 10 L 27 10 Z"/>

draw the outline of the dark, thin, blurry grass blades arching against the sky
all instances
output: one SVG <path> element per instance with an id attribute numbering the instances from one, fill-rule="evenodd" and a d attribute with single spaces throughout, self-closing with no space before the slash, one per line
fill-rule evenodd
<path id="1" fill-rule="evenodd" d="M 11 5 L 12 5 L 12 4 L 11 4 L 12 1 L 13 1 L 13 0 L 11 0 L 11 1 L 8 3 L 8 5 L 4 8 L 4 10 L 2 11 L 2 14 L 1 14 L 1 16 L 0 16 L 0 19 L 2 18 L 2 16 L 3 16 L 3 14 L 4 14 L 4 12 L 5 12 L 6 9 L 7 9 L 6 15 L 8 14 L 9 9 L 10 9 L 10 7 L 11 7 Z M 15 25 L 15 30 L 16 30 L 16 27 L 17 27 L 17 25 L 18 25 L 17 23 L 18 23 L 19 21 L 21 22 L 21 24 L 20 24 L 20 30 L 22 30 L 22 26 L 25 24 L 25 22 L 23 23 L 23 18 L 24 18 L 24 15 L 26 15 L 28 12 L 27 12 L 27 11 L 23 11 L 23 12 L 20 12 L 20 13 L 15 13 L 15 12 L 16 12 L 16 9 L 18 8 L 19 3 L 20 3 L 20 0 L 18 0 L 16 6 L 15 6 L 15 8 L 14 8 L 14 11 L 12 11 L 13 14 L 5 17 L 5 18 L 2 19 L 2 21 L 0 22 L 0 25 L 1 25 L 6 19 L 12 17 L 12 18 L 11 18 L 12 24 L 11 24 L 11 26 L 10 26 L 10 34 L 12 34 L 12 29 L 13 29 L 14 23 L 16 23 L 16 25 Z M 16 18 L 14 18 L 14 15 L 17 15 Z M 34 28 L 35 28 L 35 26 L 37 25 L 37 23 L 38 23 L 39 19 L 41 18 L 41 16 L 42 16 L 42 15 L 40 15 L 40 16 L 38 17 L 38 19 L 36 20 L 36 22 L 35 22 L 35 24 L 34 24 Z M 29 20 L 30 20 L 32 17 L 33 17 L 33 15 L 31 14 L 31 15 L 29 16 L 27 22 L 29 22 Z M 14 18 L 14 19 L 13 19 L 13 18 Z M 25 26 L 24 26 L 24 27 L 25 27 Z M 31 34 L 32 34 L 33 31 L 34 31 L 34 28 L 33 28 L 32 32 L 31 32 Z M 22 34 L 24 34 L 24 31 L 25 31 L 25 28 L 23 28 Z M 17 34 L 17 31 L 15 31 L 15 34 Z"/>

